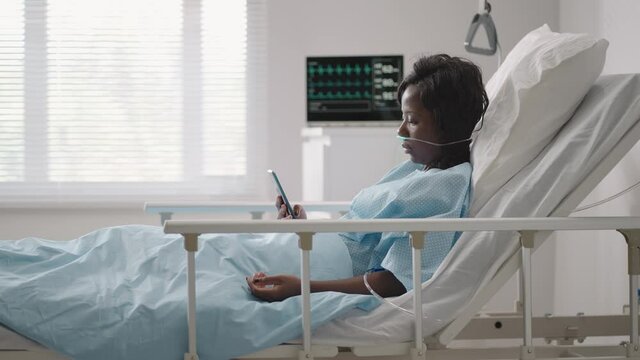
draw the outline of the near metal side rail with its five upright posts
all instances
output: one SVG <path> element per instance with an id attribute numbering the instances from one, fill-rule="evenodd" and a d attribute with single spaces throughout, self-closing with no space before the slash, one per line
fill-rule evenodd
<path id="1" fill-rule="evenodd" d="M 198 359 L 195 327 L 195 256 L 198 236 L 203 233 L 296 233 L 301 251 L 301 294 L 303 314 L 303 343 L 299 359 L 313 359 L 311 347 L 311 304 L 309 283 L 309 252 L 313 247 L 313 234 L 318 232 L 409 232 L 412 243 L 414 289 L 421 288 L 420 249 L 424 236 L 430 231 L 517 231 L 521 240 L 521 280 L 523 295 L 523 343 L 520 359 L 535 359 L 532 344 L 532 294 L 531 294 L 531 249 L 537 231 L 559 230 L 616 230 L 628 244 L 629 253 L 629 297 L 631 304 L 629 321 L 629 345 L 627 357 L 640 357 L 638 339 L 638 302 L 636 291 L 640 275 L 640 217 L 568 217 L 568 218 L 467 218 L 467 219 L 383 219 L 383 220 L 304 220 L 304 221 L 188 221 L 170 220 L 164 224 L 168 234 L 182 234 L 188 261 L 188 320 L 189 349 L 185 359 Z M 410 346 L 411 359 L 425 359 L 426 345 L 422 336 L 421 291 L 414 291 L 415 336 Z M 636 316 L 633 316 L 633 315 Z M 323 348 L 323 350 L 326 350 Z M 316 354 L 319 356 L 320 354 Z M 325 353 L 326 356 L 326 353 Z"/>

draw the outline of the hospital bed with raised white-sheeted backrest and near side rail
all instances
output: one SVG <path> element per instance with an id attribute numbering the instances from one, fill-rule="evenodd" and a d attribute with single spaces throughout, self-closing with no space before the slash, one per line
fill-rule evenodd
<path id="1" fill-rule="evenodd" d="M 640 358 L 638 319 L 635 316 L 597 318 L 536 319 L 531 313 L 531 252 L 551 231 L 613 229 L 630 242 L 631 314 L 637 314 L 638 218 L 564 218 L 604 178 L 640 139 L 640 82 L 638 75 L 601 77 L 587 94 L 573 118 L 560 130 L 534 161 L 514 176 L 490 201 L 492 206 L 474 214 L 473 219 L 376 220 L 376 221 L 188 221 L 169 220 L 165 232 L 184 234 L 188 260 L 189 344 L 186 359 L 196 358 L 194 254 L 197 238 L 204 233 L 293 232 L 301 234 L 302 263 L 313 247 L 312 233 L 335 231 L 408 231 L 414 239 L 428 231 L 465 231 L 436 274 L 407 293 L 393 299 L 413 308 L 421 322 L 408 320 L 397 310 L 381 305 L 370 313 L 354 310 L 344 318 L 309 331 L 308 283 L 303 286 L 304 320 L 302 339 L 247 355 L 247 358 L 558 358 L 585 355 L 596 358 Z M 629 87 L 635 84 L 634 94 Z M 617 90 L 614 91 L 614 90 Z M 617 104 L 620 98 L 629 101 Z M 617 104 L 613 106 L 612 104 Z M 576 140 L 580 140 L 576 142 Z M 566 166 L 567 164 L 575 166 Z M 542 190 L 545 196 L 540 196 Z M 268 206 L 272 206 L 268 204 Z M 560 217 L 560 218 L 558 218 Z M 501 218 L 501 219 L 498 219 Z M 472 231 L 483 232 L 472 232 Z M 498 230 L 499 232 L 486 232 Z M 518 235 L 519 234 L 519 235 Z M 520 238 L 520 242 L 518 242 Z M 620 241 L 620 240 L 612 240 Z M 520 244 L 520 245 L 519 245 Z M 414 242 L 421 246 L 420 241 Z M 489 254 L 485 252 L 490 248 Z M 484 256 L 487 255 L 487 256 Z M 415 252 L 414 261 L 419 261 Z M 465 263 L 478 269 L 461 268 Z M 482 305 L 518 269 L 522 269 L 521 306 L 514 314 L 475 317 Z M 306 274 L 302 268 L 302 273 Z M 474 277 L 475 276 L 475 277 Z M 303 275 L 308 280 L 308 275 Z M 445 281 L 446 280 L 446 281 Z M 447 282 L 449 286 L 446 286 Z M 438 293 L 438 292 L 443 293 Z M 186 294 L 185 294 L 186 296 Z M 439 298 L 434 298 L 434 296 Z M 431 301 L 438 300 L 438 301 Z M 412 305 L 414 304 L 414 305 Z M 630 320 L 629 320 L 630 319 Z M 629 324 L 625 324 L 629 322 Z M 497 324 L 501 324 L 498 326 Z M 415 326 L 415 325 L 418 326 Z M 603 325 L 604 324 L 604 325 Z M 606 326 L 605 326 L 606 325 Z M 515 327 L 515 328 L 514 328 Z M 519 328 L 519 330 L 515 330 Z M 391 330 L 390 330 L 391 329 Z M 533 338 L 579 340 L 588 336 L 629 336 L 626 346 L 534 346 Z M 11 334 L 11 336 L 17 336 Z M 202 338 L 200 334 L 199 337 Z M 457 349 L 448 347 L 455 339 L 521 337 L 522 346 L 510 348 Z M 565 341 L 566 339 L 566 341 Z M 27 351 L 28 350 L 28 351 Z M 1 358 L 50 359 L 55 352 L 21 344 L 8 345 Z"/>

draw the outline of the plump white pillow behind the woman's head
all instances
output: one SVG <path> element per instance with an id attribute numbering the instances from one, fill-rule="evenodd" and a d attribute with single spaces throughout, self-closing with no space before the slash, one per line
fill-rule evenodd
<path id="1" fill-rule="evenodd" d="M 490 103 L 471 147 L 472 215 L 569 120 L 602 72 L 608 45 L 545 24 L 511 50 L 486 85 Z"/>

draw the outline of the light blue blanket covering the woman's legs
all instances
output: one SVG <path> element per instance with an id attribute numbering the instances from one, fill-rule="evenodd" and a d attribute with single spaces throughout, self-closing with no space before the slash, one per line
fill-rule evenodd
<path id="1" fill-rule="evenodd" d="M 352 275 L 336 235 L 316 236 L 313 279 Z M 302 336 L 300 296 L 267 303 L 245 276 L 299 274 L 295 235 L 203 235 L 196 255 L 198 353 L 228 359 Z M 186 252 L 161 228 L 123 226 L 58 242 L 0 242 L 0 322 L 74 359 L 181 359 L 187 350 Z M 312 294 L 313 327 L 369 295 Z"/>

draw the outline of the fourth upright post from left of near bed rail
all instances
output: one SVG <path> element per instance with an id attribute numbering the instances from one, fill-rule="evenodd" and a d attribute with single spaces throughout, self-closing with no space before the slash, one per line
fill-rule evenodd
<path id="1" fill-rule="evenodd" d="M 520 348 L 520 359 L 535 359 L 533 347 L 532 331 L 532 300 L 531 295 L 531 249 L 533 249 L 534 231 L 520 231 L 520 242 L 522 244 L 522 268 L 520 269 L 521 289 L 522 289 L 522 319 L 524 324 L 523 344 Z"/>

